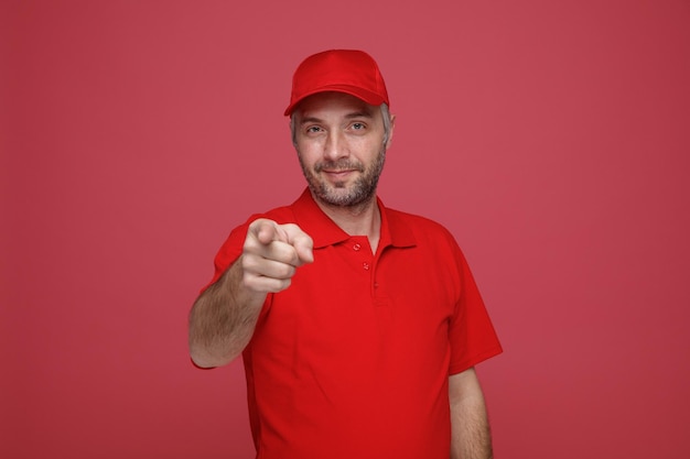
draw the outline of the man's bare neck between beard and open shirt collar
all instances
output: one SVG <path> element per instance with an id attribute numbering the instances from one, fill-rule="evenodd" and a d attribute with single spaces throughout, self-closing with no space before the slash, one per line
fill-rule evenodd
<path id="1" fill-rule="evenodd" d="M 333 206 L 314 198 L 316 205 L 343 231 L 349 236 L 366 236 L 369 239 L 371 251 L 376 253 L 381 232 L 381 212 L 376 201 L 376 195 L 356 206 Z"/>

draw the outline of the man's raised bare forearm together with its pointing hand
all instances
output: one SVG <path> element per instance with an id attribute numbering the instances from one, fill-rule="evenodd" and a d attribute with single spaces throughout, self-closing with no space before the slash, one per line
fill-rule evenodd
<path id="1" fill-rule="evenodd" d="M 295 225 L 254 221 L 240 258 L 192 307 L 188 339 L 194 363 L 220 367 L 239 356 L 267 294 L 288 288 L 297 267 L 312 256 L 311 238 Z"/>

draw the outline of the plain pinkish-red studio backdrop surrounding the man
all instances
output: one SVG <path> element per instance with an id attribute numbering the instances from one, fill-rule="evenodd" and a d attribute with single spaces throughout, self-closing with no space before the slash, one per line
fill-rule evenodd
<path id="1" fill-rule="evenodd" d="M 3 1 L 0 456 L 252 457 L 186 315 L 303 178 L 297 64 L 356 47 L 398 116 L 380 195 L 434 218 L 506 352 L 497 458 L 690 457 L 688 1 Z"/>

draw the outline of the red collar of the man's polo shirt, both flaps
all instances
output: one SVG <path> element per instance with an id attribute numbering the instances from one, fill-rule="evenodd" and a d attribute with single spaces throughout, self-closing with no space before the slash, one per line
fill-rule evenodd
<path id="1" fill-rule="evenodd" d="M 412 230 L 396 214 L 389 211 L 384 203 L 376 198 L 381 212 L 381 238 L 379 245 L 413 247 L 417 244 Z M 314 241 L 314 249 L 334 245 L 351 238 L 314 201 L 309 188 L 292 204 L 295 221 Z"/>

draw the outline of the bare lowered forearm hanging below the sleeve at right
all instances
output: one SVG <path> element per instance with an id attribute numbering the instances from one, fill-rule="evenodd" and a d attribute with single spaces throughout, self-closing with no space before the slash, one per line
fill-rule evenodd
<path id="1" fill-rule="evenodd" d="M 473 368 L 449 378 L 451 459 L 492 459 L 484 394 Z"/>

